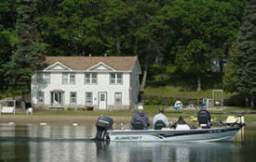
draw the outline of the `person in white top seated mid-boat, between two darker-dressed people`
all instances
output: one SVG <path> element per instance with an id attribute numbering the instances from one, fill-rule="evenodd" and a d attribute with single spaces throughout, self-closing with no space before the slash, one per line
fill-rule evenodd
<path id="1" fill-rule="evenodd" d="M 158 109 L 158 114 L 153 118 L 153 127 L 155 130 L 168 127 L 168 118 L 164 115 L 164 108 Z"/>

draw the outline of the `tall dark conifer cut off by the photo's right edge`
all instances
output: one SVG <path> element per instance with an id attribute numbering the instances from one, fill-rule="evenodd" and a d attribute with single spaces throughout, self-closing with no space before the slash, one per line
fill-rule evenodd
<path id="1" fill-rule="evenodd" d="M 247 0 L 244 21 L 240 28 L 241 34 L 238 38 L 238 79 L 237 88 L 239 92 L 246 93 L 246 106 L 254 107 L 254 96 L 256 93 L 256 1 Z"/>

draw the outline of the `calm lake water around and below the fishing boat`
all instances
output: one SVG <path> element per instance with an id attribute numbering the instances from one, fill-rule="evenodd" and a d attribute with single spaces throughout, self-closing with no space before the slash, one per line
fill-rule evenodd
<path id="1" fill-rule="evenodd" d="M 256 127 L 246 127 L 244 132 L 232 143 L 95 143 L 85 139 L 95 135 L 94 125 L 1 123 L 0 161 L 256 161 Z"/>

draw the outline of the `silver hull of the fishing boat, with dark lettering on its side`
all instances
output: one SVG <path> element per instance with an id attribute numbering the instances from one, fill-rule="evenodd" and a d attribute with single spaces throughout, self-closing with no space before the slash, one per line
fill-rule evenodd
<path id="1" fill-rule="evenodd" d="M 149 130 L 149 131 L 108 131 L 113 142 L 214 142 L 230 141 L 239 131 L 239 127 L 212 128 L 195 130 Z"/>

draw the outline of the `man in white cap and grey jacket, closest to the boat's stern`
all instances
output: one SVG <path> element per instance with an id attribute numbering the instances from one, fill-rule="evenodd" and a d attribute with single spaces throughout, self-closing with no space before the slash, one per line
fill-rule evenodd
<path id="1" fill-rule="evenodd" d="M 150 126 L 149 119 L 147 115 L 143 112 L 143 106 L 138 106 L 138 112 L 133 115 L 133 117 L 130 120 L 130 124 L 132 126 L 132 129 L 134 129 L 134 124 L 140 121 L 142 123 L 142 129 L 147 130 Z"/>

